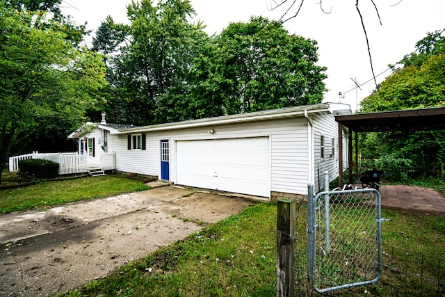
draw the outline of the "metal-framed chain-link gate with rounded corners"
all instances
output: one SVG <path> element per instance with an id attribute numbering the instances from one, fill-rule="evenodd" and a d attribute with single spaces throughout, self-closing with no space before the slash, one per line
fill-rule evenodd
<path id="1" fill-rule="evenodd" d="M 308 207 L 309 285 L 327 293 L 377 282 L 384 220 L 380 193 L 365 188 L 309 194 Z"/>

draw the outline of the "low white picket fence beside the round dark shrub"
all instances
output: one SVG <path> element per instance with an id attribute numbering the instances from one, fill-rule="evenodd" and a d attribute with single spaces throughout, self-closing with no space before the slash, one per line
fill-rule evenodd
<path id="1" fill-rule="evenodd" d="M 32 154 L 22 154 L 21 156 L 11 156 L 9 158 L 9 171 L 17 172 L 19 170 L 19 161 L 24 159 L 44 159 L 54 161 L 59 164 L 59 175 L 72 175 L 75 173 L 88 172 L 87 156 L 85 154 L 77 154 L 76 152 L 65 153 L 49 153 L 40 154 L 33 152 Z M 115 169 L 115 153 L 102 154 L 100 157 L 102 170 Z M 97 167 L 97 166 L 94 166 Z"/>

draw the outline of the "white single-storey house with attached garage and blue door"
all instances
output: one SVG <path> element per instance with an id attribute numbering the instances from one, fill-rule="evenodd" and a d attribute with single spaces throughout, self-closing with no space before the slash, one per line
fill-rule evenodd
<path id="1" fill-rule="evenodd" d="M 307 195 L 308 183 L 318 191 L 326 170 L 330 180 L 338 176 L 338 156 L 347 154 L 338 152 L 334 116 L 350 113 L 349 105 L 322 103 L 145 127 L 103 117 L 68 137 L 78 139 L 90 166 L 114 152 L 120 172 L 277 198 Z"/>

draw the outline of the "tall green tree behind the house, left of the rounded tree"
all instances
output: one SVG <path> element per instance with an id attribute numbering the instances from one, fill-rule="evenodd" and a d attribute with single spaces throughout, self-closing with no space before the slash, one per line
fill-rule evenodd
<path id="1" fill-rule="evenodd" d="M 108 64 L 112 68 L 108 79 L 117 92 L 114 102 L 125 106 L 127 122 L 147 125 L 190 118 L 190 72 L 207 37 L 200 22 L 190 22 L 194 15 L 188 0 L 156 5 L 142 0 L 127 6 L 129 26 L 108 19 L 111 32 L 121 33 L 107 35 L 104 29 L 102 48 L 120 44 L 108 53 L 113 60 Z"/>

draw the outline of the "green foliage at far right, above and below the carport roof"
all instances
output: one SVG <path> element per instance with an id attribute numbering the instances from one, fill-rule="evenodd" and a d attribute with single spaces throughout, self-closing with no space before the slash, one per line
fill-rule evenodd
<path id="1" fill-rule="evenodd" d="M 445 106 L 445 38 L 428 33 L 396 69 L 362 102 L 363 111 L 392 111 Z M 364 156 L 409 159 L 418 175 L 431 175 L 445 161 L 445 131 L 387 131 L 364 139 Z"/>

